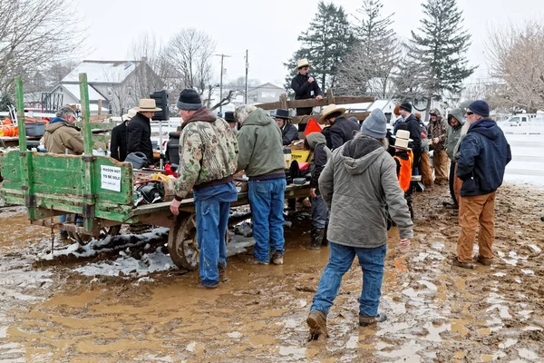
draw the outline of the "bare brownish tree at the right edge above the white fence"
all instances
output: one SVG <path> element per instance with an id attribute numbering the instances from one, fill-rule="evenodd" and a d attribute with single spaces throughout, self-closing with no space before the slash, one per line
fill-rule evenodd
<path id="1" fill-rule="evenodd" d="M 490 30 L 486 40 L 492 97 L 529 112 L 544 109 L 544 25 L 529 21 Z"/>

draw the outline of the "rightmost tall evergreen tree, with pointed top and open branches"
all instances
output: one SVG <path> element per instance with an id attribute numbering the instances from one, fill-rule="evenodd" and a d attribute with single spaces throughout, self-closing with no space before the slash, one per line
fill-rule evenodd
<path id="1" fill-rule="evenodd" d="M 423 65 L 427 82 L 427 111 L 431 98 L 461 93 L 462 82 L 475 70 L 468 66 L 466 52 L 471 34 L 462 28 L 462 11 L 456 0 L 427 0 L 423 6 L 420 34 L 412 32 L 411 48 Z"/>

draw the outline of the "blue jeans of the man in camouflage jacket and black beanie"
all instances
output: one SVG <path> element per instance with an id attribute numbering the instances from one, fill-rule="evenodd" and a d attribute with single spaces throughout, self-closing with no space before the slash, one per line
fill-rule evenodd
<path id="1" fill-rule="evenodd" d="M 227 267 L 225 233 L 230 202 L 238 193 L 233 182 L 194 191 L 199 242 L 199 274 L 202 285 L 219 283 L 219 264 Z"/>

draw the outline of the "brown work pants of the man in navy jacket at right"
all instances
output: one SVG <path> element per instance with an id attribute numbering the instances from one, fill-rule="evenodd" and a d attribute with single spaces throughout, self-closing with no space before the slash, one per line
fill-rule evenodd
<path id="1" fill-rule="evenodd" d="M 493 258 L 491 250 L 495 231 L 495 196 L 497 191 L 483 195 L 462 197 L 459 204 L 459 225 L 461 234 L 457 239 L 457 260 L 472 261 L 472 250 L 476 229 L 480 224 L 478 234 L 479 254 L 486 260 Z"/>

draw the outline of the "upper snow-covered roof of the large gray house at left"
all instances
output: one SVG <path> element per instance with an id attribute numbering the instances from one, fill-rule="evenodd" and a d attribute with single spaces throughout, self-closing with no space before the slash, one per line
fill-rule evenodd
<path id="1" fill-rule="evenodd" d="M 87 74 L 88 83 L 122 83 L 140 61 L 83 61 L 61 83 L 79 83 L 79 74 Z"/>

